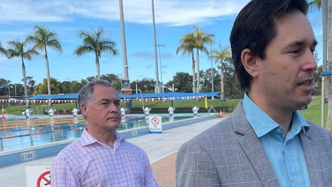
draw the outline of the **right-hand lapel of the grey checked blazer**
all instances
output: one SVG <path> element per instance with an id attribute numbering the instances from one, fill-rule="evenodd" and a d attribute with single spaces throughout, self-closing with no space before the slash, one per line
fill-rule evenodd
<path id="1" fill-rule="evenodd" d="M 323 186 L 322 172 L 320 168 L 319 158 L 316 151 L 316 146 L 311 139 L 312 133 L 305 132 L 304 128 L 300 132 L 300 138 L 302 143 L 303 152 L 306 159 L 306 165 L 309 170 L 310 180 L 312 186 Z"/>

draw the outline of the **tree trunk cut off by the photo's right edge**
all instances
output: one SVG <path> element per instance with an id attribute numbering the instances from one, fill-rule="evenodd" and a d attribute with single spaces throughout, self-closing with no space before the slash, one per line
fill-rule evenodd
<path id="1" fill-rule="evenodd" d="M 329 69 L 332 65 L 332 1 L 328 1 L 328 66 Z M 332 125 L 332 76 L 328 76 L 328 114 L 327 114 L 327 127 Z"/>

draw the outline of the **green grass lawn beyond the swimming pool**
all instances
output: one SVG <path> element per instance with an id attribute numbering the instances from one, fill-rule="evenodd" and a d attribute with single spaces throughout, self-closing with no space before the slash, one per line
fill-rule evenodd
<path id="1" fill-rule="evenodd" d="M 238 103 L 242 101 L 242 99 L 231 99 L 227 100 L 225 102 L 222 102 L 221 100 L 208 100 L 207 104 L 208 107 L 214 106 L 219 112 L 221 109 L 225 108 L 226 112 L 232 112 L 234 108 L 238 105 Z M 310 120 L 316 124 L 320 124 L 320 96 L 314 96 L 312 102 L 308 105 L 308 108 L 305 110 L 301 110 L 302 115 L 305 119 Z M 3 103 L 2 103 L 3 104 Z M 223 106 L 224 105 L 224 106 Z M 0 105 L 1 106 L 1 105 Z M 168 113 L 168 108 L 172 106 L 171 101 L 147 101 L 144 102 L 144 107 L 150 107 L 151 113 Z M 192 108 L 194 106 L 198 106 L 200 108 L 199 112 L 207 112 L 205 109 L 205 101 L 202 99 L 201 101 L 196 100 L 175 100 L 173 101 L 173 107 L 175 107 L 175 113 L 192 113 Z M 38 112 L 37 112 L 38 107 Z M 121 107 L 126 107 L 126 103 L 122 102 Z M 33 105 L 30 107 L 33 108 Z M 60 114 L 62 114 L 63 109 L 65 108 L 68 114 L 69 109 L 76 108 L 76 103 L 66 103 L 66 104 L 53 104 L 53 109 L 59 109 Z M 14 115 L 21 115 L 21 109 L 26 109 L 25 104 L 21 105 L 12 105 L 11 106 L 5 106 L 6 111 L 9 114 Z M 35 114 L 42 114 L 43 112 L 47 112 L 49 110 L 49 107 L 42 104 L 35 104 L 34 105 L 34 111 Z M 223 112 L 225 112 L 223 110 Z M 141 102 L 133 101 L 133 112 L 132 113 L 143 113 L 142 104 Z M 47 113 L 45 113 L 47 114 Z M 325 103 L 325 122 L 327 118 L 327 103 Z"/>

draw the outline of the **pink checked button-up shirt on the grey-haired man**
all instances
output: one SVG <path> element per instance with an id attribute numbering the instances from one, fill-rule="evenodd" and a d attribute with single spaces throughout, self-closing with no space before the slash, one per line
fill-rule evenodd
<path id="1" fill-rule="evenodd" d="M 51 169 L 57 186 L 158 186 L 147 154 L 115 132 L 114 149 L 86 130 L 64 148 Z"/>

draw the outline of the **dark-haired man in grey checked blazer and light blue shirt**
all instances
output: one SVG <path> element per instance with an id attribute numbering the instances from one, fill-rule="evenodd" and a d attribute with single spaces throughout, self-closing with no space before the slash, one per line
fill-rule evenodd
<path id="1" fill-rule="evenodd" d="M 306 11 L 305 0 L 253 0 L 241 10 L 230 43 L 245 99 L 182 145 L 177 186 L 332 186 L 331 134 L 297 111 L 311 102 L 317 68 Z M 275 128 L 262 133 L 263 120 Z M 271 140 L 280 131 L 281 152 Z"/>

